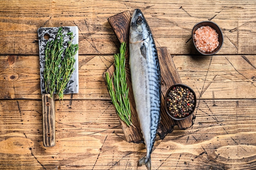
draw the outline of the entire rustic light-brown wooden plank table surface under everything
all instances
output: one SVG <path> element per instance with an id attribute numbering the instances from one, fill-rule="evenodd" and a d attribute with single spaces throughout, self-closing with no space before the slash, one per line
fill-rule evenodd
<path id="1" fill-rule="evenodd" d="M 256 169 L 256 2 L 254 0 L 1 0 L 0 169 L 145 170 L 144 144 L 128 143 L 102 74 L 120 43 L 108 18 L 139 8 L 157 47 L 167 47 L 198 98 L 191 128 L 157 136 L 153 170 Z M 211 20 L 224 44 L 200 56 L 191 30 Z M 79 93 L 55 101 L 56 145 L 42 139 L 37 29 L 79 28 Z"/>

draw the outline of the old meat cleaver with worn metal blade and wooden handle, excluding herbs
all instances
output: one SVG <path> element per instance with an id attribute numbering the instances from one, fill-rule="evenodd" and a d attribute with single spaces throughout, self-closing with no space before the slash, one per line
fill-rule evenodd
<path id="1" fill-rule="evenodd" d="M 59 27 L 45 27 L 38 29 L 38 41 L 39 41 L 39 58 L 40 58 L 40 86 L 42 94 L 42 114 L 43 114 L 43 145 L 45 147 L 54 146 L 55 140 L 55 103 L 54 96 L 46 94 L 44 83 L 44 69 L 45 69 L 45 45 L 47 41 L 54 40 L 57 35 Z M 67 44 L 70 39 L 67 33 L 73 32 L 74 39 L 73 44 L 78 44 L 78 27 L 63 27 L 64 44 Z M 64 45 L 65 47 L 65 45 Z M 67 88 L 64 90 L 64 94 L 78 93 L 78 52 L 75 55 L 76 62 L 74 64 L 74 72 L 70 77 L 70 81 L 67 83 Z"/>

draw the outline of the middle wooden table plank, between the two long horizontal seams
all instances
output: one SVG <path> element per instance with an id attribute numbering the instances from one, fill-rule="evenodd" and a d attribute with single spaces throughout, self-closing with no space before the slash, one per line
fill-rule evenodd
<path id="1" fill-rule="evenodd" d="M 256 58 L 253 55 L 172 56 L 182 83 L 202 99 L 254 99 Z M 79 94 L 65 99 L 110 99 L 102 78 L 112 55 L 79 56 Z M 0 99 L 40 99 L 38 56 L 0 57 Z M 241 90 L 247 89 L 247 90 Z"/>

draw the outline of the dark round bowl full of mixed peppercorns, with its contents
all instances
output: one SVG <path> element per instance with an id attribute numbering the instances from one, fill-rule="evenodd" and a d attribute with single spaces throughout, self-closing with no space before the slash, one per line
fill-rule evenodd
<path id="1" fill-rule="evenodd" d="M 195 110 L 196 96 L 191 87 L 184 84 L 172 85 L 165 96 L 165 109 L 174 120 L 183 120 Z"/>

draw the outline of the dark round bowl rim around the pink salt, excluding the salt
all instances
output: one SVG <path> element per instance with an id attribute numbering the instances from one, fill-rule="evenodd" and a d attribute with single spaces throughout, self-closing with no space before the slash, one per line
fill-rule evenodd
<path id="1" fill-rule="evenodd" d="M 218 33 L 218 41 L 219 41 L 219 45 L 216 49 L 214 49 L 213 51 L 211 52 L 204 52 L 204 51 L 201 51 L 200 49 L 198 49 L 198 47 L 196 47 L 195 45 L 195 38 L 194 38 L 194 35 L 195 35 L 195 31 L 202 27 L 202 26 L 210 26 L 211 28 L 215 29 L 216 32 Z M 202 55 L 213 55 L 213 54 L 216 54 L 222 47 L 223 45 L 223 34 L 222 34 L 222 31 L 220 29 L 220 27 L 215 23 L 215 22 L 212 22 L 212 21 L 202 21 L 202 22 L 198 22 L 192 29 L 192 40 L 193 40 L 193 44 L 195 45 L 195 48 L 197 49 L 197 51 L 202 54 Z"/>

